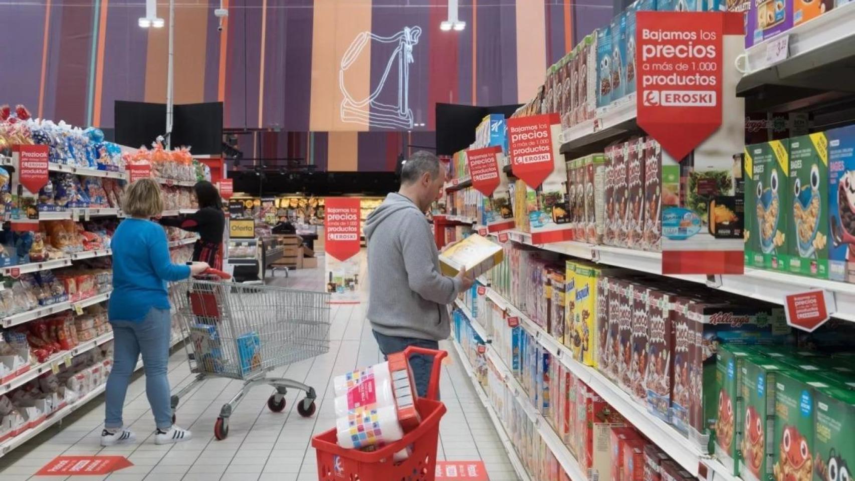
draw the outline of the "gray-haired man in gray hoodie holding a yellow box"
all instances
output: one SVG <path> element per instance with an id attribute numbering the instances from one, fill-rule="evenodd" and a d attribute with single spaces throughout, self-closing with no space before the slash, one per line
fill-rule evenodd
<path id="1" fill-rule="evenodd" d="M 369 256 L 368 318 L 383 355 L 407 346 L 439 349 L 451 333 L 448 304 L 472 287 L 465 269 L 439 272 L 439 251 L 425 212 L 442 194 L 445 176 L 436 155 L 420 150 L 401 167 L 401 188 L 365 220 Z M 428 393 L 429 356 L 410 359 L 419 396 Z"/>

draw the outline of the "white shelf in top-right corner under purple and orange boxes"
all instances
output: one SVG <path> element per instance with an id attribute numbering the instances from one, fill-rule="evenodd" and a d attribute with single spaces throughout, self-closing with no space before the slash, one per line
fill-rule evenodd
<path id="1" fill-rule="evenodd" d="M 747 72 L 736 91 L 742 94 L 769 84 L 852 91 L 848 67 L 835 62 L 851 59 L 855 52 L 853 22 L 855 5 L 850 3 L 753 45 L 746 50 Z M 768 56 L 767 51 L 785 38 L 788 55 Z"/>

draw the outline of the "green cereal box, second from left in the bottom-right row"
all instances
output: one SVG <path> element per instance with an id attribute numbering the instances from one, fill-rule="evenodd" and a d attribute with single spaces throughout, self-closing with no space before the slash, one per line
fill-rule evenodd
<path id="1" fill-rule="evenodd" d="M 744 427 L 740 442 L 740 472 L 745 481 L 773 481 L 775 385 L 781 364 L 751 356 L 742 365 Z"/>

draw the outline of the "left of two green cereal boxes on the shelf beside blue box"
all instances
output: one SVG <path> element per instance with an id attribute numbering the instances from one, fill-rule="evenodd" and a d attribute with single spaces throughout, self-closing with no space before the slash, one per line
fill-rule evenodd
<path id="1" fill-rule="evenodd" d="M 750 267 L 787 270 L 787 188 L 789 158 L 787 140 L 746 146 L 746 255 Z"/>

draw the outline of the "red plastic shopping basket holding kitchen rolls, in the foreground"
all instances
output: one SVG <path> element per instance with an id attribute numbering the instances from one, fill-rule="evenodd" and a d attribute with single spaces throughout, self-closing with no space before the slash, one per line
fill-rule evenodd
<path id="1" fill-rule="evenodd" d="M 433 481 L 436 470 L 436 447 L 439 442 L 439 419 L 445 414 L 445 404 L 437 400 L 439 394 L 439 370 L 445 351 L 409 347 L 404 355 L 433 355 L 433 369 L 428 384 L 428 397 L 416 400 L 416 409 L 422 423 L 399 441 L 370 453 L 358 449 L 339 447 L 335 428 L 312 438 L 312 447 L 317 452 L 318 477 L 320 481 Z M 392 456 L 412 447 L 406 460 L 395 463 Z"/>

